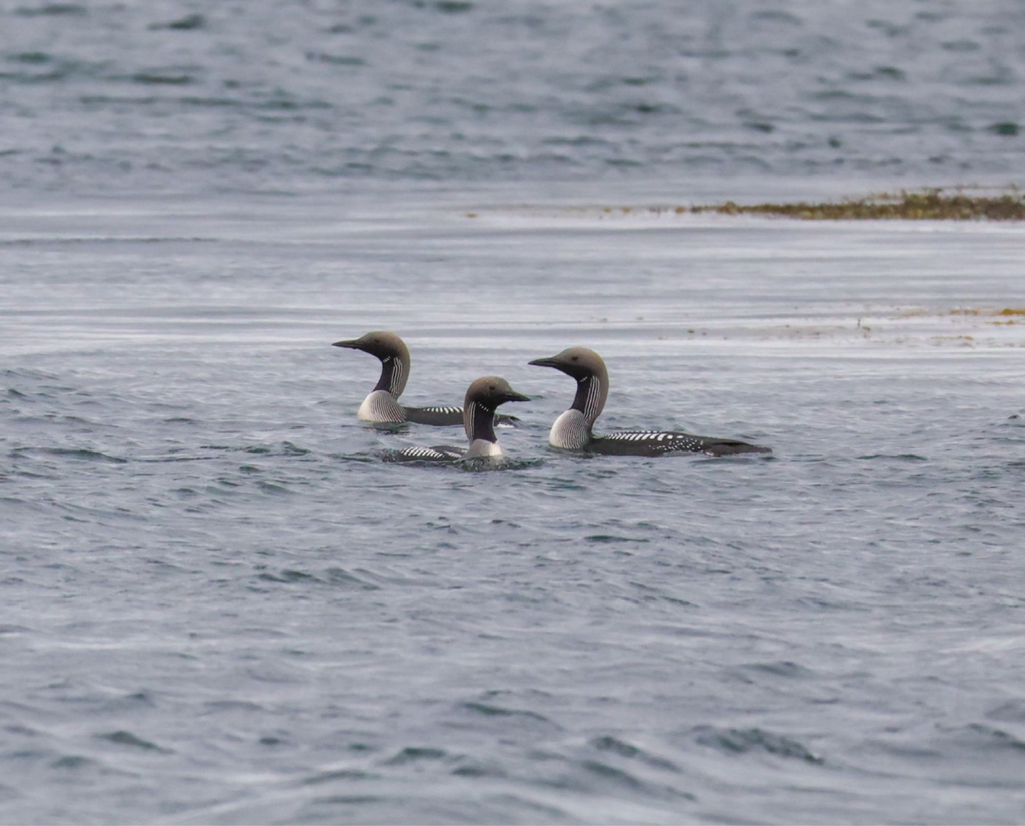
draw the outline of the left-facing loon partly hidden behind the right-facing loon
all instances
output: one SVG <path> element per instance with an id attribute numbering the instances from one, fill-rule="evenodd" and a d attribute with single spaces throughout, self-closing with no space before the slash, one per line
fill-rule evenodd
<path id="1" fill-rule="evenodd" d="M 450 406 L 406 407 L 399 397 L 409 378 L 409 347 L 395 333 L 377 330 L 350 341 L 335 341 L 333 347 L 362 349 L 381 361 L 377 385 L 360 405 L 359 417 L 375 424 L 462 424 L 462 408 Z M 519 421 L 515 416 L 499 416 L 499 421 Z"/>

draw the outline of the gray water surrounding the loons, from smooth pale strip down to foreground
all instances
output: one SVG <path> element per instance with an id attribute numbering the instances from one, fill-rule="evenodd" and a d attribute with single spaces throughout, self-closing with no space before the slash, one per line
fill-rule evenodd
<path id="1" fill-rule="evenodd" d="M 3 822 L 1020 822 L 1020 228 L 2 217 Z M 375 328 L 533 398 L 506 469 L 380 460 L 459 435 L 357 421 Z M 773 457 L 548 450 L 571 344 Z"/>

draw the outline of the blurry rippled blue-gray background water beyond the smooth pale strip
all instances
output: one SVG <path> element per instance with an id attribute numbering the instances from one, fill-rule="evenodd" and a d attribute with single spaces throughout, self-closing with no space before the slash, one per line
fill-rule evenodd
<path id="1" fill-rule="evenodd" d="M 1023 28 L 1018 0 L 8 0 L 0 182 L 1007 177 Z"/>

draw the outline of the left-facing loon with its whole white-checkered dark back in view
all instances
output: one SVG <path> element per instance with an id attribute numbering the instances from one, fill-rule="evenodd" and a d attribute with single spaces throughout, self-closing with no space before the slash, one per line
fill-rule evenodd
<path id="1" fill-rule="evenodd" d="M 568 450 L 586 450 L 617 456 L 662 456 L 666 453 L 705 453 L 727 456 L 733 453 L 772 453 L 769 448 L 732 439 L 712 439 L 685 432 L 659 430 L 612 432 L 594 436 L 591 428 L 605 408 L 609 395 L 609 371 L 602 357 L 586 347 L 570 347 L 550 359 L 530 364 L 554 367 L 577 382 L 573 405 L 551 425 L 548 443 Z"/>

